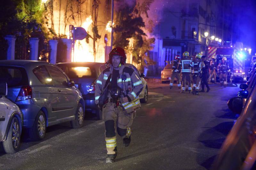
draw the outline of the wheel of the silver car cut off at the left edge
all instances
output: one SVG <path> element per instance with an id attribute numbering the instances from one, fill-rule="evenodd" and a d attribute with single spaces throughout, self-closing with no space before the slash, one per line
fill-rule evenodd
<path id="1" fill-rule="evenodd" d="M 20 148 L 20 122 L 17 117 L 12 118 L 6 140 L 3 142 L 6 153 L 15 153 Z"/>

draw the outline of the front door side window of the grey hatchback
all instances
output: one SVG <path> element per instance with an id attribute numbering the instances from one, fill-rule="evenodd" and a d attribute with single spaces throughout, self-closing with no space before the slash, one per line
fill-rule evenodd
<path id="1" fill-rule="evenodd" d="M 47 65 L 46 68 L 51 75 L 54 85 L 63 85 L 68 87 L 67 77 L 59 69 L 49 65 Z"/>

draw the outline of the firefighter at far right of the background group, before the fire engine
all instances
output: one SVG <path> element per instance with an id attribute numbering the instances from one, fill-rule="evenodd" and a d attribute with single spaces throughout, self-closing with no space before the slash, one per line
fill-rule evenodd
<path id="1" fill-rule="evenodd" d="M 224 87 L 227 86 L 227 72 L 229 70 L 229 66 L 227 63 L 227 58 L 223 57 L 222 62 L 218 65 L 218 72 L 220 74 L 220 85 L 224 85 Z"/>

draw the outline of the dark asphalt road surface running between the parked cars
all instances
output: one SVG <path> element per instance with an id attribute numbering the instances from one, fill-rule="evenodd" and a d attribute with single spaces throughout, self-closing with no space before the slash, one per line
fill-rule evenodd
<path id="1" fill-rule="evenodd" d="M 23 133 L 20 152 L 0 151 L 0 169 L 209 169 L 236 121 L 227 101 L 239 88 L 210 85 L 209 93 L 194 96 L 168 84 L 152 87 L 164 97 L 142 104 L 130 146 L 117 138 L 115 163 L 105 163 L 104 122 L 89 117 L 81 129 L 69 123 L 47 128 L 42 141 Z"/>

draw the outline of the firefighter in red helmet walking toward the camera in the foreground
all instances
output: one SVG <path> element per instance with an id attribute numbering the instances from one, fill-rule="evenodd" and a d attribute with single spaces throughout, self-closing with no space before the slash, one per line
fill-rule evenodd
<path id="1" fill-rule="evenodd" d="M 123 48 L 112 49 L 108 56 L 111 66 L 101 72 L 96 81 L 95 103 L 100 104 L 107 94 L 103 99 L 102 119 L 105 122 L 106 163 L 112 163 L 117 156 L 116 132 L 123 138 L 125 147 L 131 142 L 130 127 L 135 110 L 140 108 L 139 94 L 143 85 L 135 71 L 124 65 L 126 53 Z"/>

